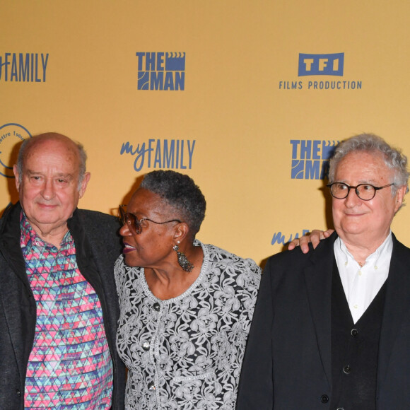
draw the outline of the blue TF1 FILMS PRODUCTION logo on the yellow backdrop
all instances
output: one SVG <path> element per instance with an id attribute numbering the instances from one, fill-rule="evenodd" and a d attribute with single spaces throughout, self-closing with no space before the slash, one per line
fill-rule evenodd
<path id="1" fill-rule="evenodd" d="M 345 80 L 334 77 L 344 76 L 344 53 L 334 54 L 299 54 L 298 77 L 329 76 L 329 79 L 312 79 L 307 81 L 279 81 L 279 90 L 361 90 L 361 80 Z"/>

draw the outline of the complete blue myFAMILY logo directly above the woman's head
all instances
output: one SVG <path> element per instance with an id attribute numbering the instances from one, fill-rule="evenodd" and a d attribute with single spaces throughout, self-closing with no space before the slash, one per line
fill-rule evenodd
<path id="1" fill-rule="evenodd" d="M 192 168 L 195 148 L 194 139 L 148 139 L 133 146 L 129 141 L 122 143 L 119 155 L 130 155 L 134 159 L 136 172 L 146 168 L 186 170 Z"/>

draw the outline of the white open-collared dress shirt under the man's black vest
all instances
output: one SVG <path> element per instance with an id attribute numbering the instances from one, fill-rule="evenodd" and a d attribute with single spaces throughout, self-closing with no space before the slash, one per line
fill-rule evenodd
<path id="1" fill-rule="evenodd" d="M 366 258 L 363 266 L 360 266 L 341 238 L 334 241 L 334 256 L 354 323 L 361 318 L 385 283 L 389 275 L 392 250 L 393 240 L 390 232 L 385 242 Z"/>

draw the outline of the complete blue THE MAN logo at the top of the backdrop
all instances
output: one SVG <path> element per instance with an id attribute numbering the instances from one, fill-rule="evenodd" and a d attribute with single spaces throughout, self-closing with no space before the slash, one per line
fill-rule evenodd
<path id="1" fill-rule="evenodd" d="M 139 90 L 185 90 L 185 52 L 137 52 Z"/>

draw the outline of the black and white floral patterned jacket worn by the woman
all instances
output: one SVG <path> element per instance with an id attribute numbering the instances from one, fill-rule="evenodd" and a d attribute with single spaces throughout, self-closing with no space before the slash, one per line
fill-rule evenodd
<path id="1" fill-rule="evenodd" d="M 129 369 L 126 409 L 235 409 L 260 269 L 213 245 L 177 298 L 160 300 L 144 269 L 119 257 L 119 355 Z"/>

